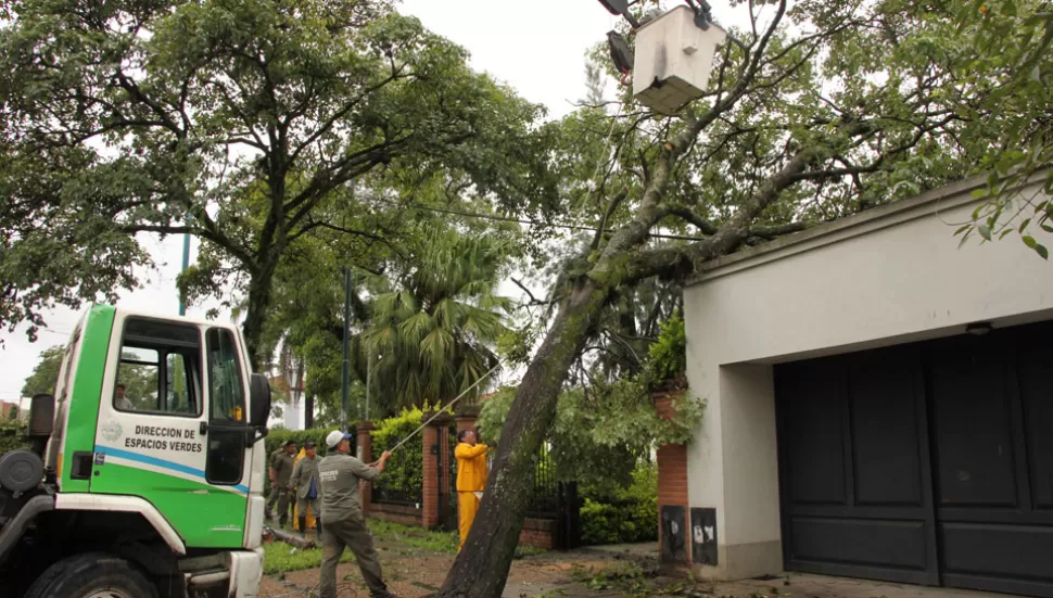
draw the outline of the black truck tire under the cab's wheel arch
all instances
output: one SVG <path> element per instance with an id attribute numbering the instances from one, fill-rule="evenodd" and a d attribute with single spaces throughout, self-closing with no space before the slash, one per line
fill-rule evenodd
<path id="1" fill-rule="evenodd" d="M 25 598 L 157 598 L 157 586 L 130 562 L 105 552 L 85 552 L 49 567 Z"/>

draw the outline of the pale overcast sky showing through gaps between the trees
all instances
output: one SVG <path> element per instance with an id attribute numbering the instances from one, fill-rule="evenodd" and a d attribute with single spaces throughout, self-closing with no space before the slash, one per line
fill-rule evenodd
<path id="1" fill-rule="evenodd" d="M 678 3 L 667 1 L 665 5 Z M 730 9 L 726 0 L 710 3 L 719 23 L 748 23 L 745 5 Z M 466 48 L 477 71 L 489 72 L 528 100 L 548 106 L 550 117 L 567 114 L 573 109 L 571 102 L 584 97 L 585 52 L 617 24 L 617 17 L 597 0 L 403 0 L 399 10 Z M 180 268 L 182 238 L 170 237 L 163 242 L 155 236 L 141 239 L 157 268 L 143 272 L 144 288 L 124 293 L 120 303 L 176 315 L 179 300 L 175 277 Z M 210 306 L 190 307 L 188 315 L 203 317 Z M 64 344 L 80 313 L 52 310 L 47 317 L 49 330 L 42 330 L 36 343 L 28 342 L 24 328 L 0 332 L 4 345 L 0 349 L 0 400 L 18 399 L 40 352 Z"/>

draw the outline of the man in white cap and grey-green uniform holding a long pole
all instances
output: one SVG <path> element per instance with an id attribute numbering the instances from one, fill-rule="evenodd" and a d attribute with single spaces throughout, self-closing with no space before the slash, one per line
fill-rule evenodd
<path id="1" fill-rule="evenodd" d="M 337 598 L 337 563 L 351 548 L 358 561 L 358 570 L 369 586 L 372 598 L 394 596 L 388 590 L 380 570 L 380 559 L 373 547 L 373 536 L 366 526 L 358 498 L 358 481 L 372 482 L 380 478 L 391 453 L 384 451 L 380 460 L 367 466 L 351 456 L 351 434 L 340 431 L 326 436 L 329 455 L 318 465 L 321 482 L 321 518 L 325 532 L 321 536 L 322 559 L 318 590 L 321 598 Z"/>

